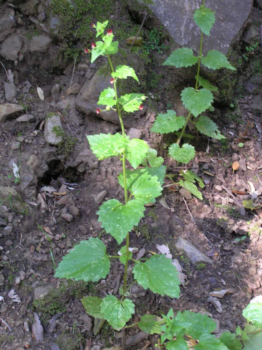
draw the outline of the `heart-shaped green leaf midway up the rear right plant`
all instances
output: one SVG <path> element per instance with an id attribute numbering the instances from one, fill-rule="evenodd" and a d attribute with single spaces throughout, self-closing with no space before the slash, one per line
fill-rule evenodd
<path id="1" fill-rule="evenodd" d="M 207 89 L 195 90 L 193 87 L 186 87 L 181 92 L 183 105 L 188 111 L 191 111 L 194 117 L 205 112 L 211 106 L 213 99 L 212 92 Z"/>

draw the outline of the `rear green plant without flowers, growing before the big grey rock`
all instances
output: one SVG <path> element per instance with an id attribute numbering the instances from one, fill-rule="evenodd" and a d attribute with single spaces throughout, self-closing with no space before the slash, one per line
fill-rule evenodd
<path id="1" fill-rule="evenodd" d="M 193 50 L 187 47 L 177 49 L 172 52 L 170 57 L 163 63 L 168 66 L 191 67 L 197 64 L 197 73 L 195 75 L 195 87 L 186 87 L 181 92 L 181 100 L 186 109 L 188 110 L 187 117 L 177 116 L 174 110 L 167 110 L 164 114 L 158 114 L 156 121 L 154 122 L 151 131 L 160 134 L 167 134 L 171 132 L 181 132 L 175 144 L 169 147 L 169 155 L 171 159 L 175 159 L 181 163 L 188 163 L 195 156 L 195 148 L 186 143 L 180 147 L 181 139 L 186 130 L 186 126 L 190 121 L 196 127 L 196 129 L 208 137 L 212 137 L 218 140 L 225 139 L 225 137 L 219 132 L 217 125 L 207 116 L 202 113 L 205 112 L 213 103 L 213 92 L 218 91 L 218 88 L 212 85 L 208 80 L 204 79 L 200 73 L 200 64 L 203 64 L 208 69 L 216 70 L 220 68 L 227 68 L 230 70 L 236 70 L 227 60 L 226 56 L 217 50 L 210 50 L 207 52 L 206 57 L 202 54 L 203 35 L 210 35 L 209 32 L 215 22 L 214 12 L 205 7 L 205 0 L 203 0 L 200 8 L 195 10 L 194 21 L 196 25 L 201 29 L 200 49 L 198 56 L 194 56 Z M 196 121 L 191 119 L 191 116 L 198 118 Z M 196 197 L 202 199 L 201 192 L 195 186 L 195 182 L 198 181 L 201 188 L 204 188 L 202 180 L 193 173 L 187 170 L 182 172 L 183 180 L 175 183 L 191 192 Z"/>

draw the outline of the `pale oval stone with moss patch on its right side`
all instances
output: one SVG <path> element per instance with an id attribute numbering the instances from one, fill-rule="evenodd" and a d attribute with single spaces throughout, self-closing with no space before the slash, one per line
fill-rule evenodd
<path id="1" fill-rule="evenodd" d="M 50 145 L 57 145 L 62 141 L 63 128 L 57 114 L 47 117 L 44 123 L 44 138 Z"/>

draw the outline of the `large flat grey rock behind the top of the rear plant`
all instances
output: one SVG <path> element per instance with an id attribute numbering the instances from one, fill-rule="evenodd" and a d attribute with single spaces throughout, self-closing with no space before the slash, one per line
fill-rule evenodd
<path id="1" fill-rule="evenodd" d="M 195 25 L 193 14 L 202 0 L 154 0 L 154 3 L 149 7 L 174 42 L 198 52 L 200 29 Z M 216 12 L 216 22 L 211 35 L 204 37 L 203 53 L 219 50 L 227 54 L 231 42 L 246 24 L 253 0 L 206 0 L 206 7 Z"/>

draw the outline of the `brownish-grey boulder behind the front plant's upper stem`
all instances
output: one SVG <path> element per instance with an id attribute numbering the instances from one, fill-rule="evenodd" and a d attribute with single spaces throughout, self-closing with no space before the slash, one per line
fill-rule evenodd
<path id="1" fill-rule="evenodd" d="M 107 89 L 110 84 L 110 76 L 105 77 L 98 72 L 92 77 L 91 80 L 87 80 L 83 85 L 82 89 L 77 95 L 76 106 L 77 108 L 84 112 L 85 114 L 94 114 L 96 109 L 104 109 L 105 106 L 98 106 L 97 101 L 101 91 Z M 117 112 L 110 110 L 105 112 L 100 112 L 98 117 L 104 120 L 112 121 L 115 124 L 120 124 Z"/>

